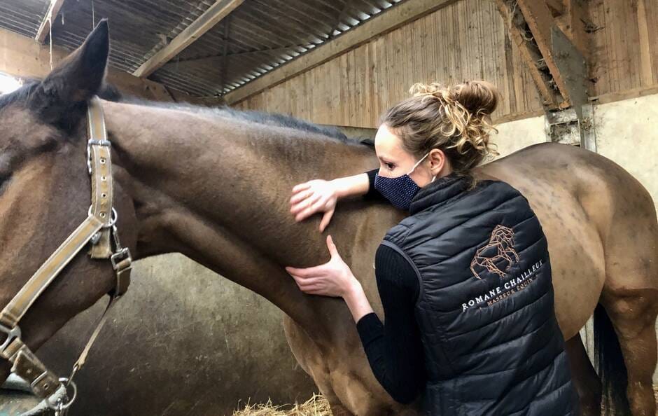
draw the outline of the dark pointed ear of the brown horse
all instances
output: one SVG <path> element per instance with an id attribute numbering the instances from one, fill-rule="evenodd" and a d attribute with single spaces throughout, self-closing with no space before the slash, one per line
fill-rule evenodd
<path id="1" fill-rule="evenodd" d="M 103 19 L 85 43 L 41 81 L 31 96 L 31 109 L 46 121 L 56 122 L 71 107 L 96 95 L 104 82 L 109 50 L 108 25 Z"/>

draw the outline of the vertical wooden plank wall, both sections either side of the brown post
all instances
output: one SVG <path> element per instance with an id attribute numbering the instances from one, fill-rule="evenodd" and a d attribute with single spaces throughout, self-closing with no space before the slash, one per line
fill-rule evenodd
<path id="1" fill-rule="evenodd" d="M 658 84 L 658 1 L 591 0 L 593 95 Z M 461 0 L 236 104 L 315 123 L 377 127 L 415 82 L 484 79 L 498 123 L 541 113 L 540 99 L 491 0 Z"/>

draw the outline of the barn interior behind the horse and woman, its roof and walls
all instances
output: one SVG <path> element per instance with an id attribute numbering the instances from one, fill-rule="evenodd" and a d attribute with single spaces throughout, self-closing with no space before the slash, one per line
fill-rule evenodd
<path id="1" fill-rule="evenodd" d="M 547 141 L 579 146 L 630 172 L 658 209 L 658 1 L 1 0 L 0 92 L 43 78 L 102 19 L 107 78 L 125 95 L 282 113 L 352 137 L 374 137 L 414 83 L 489 81 L 502 98 L 499 158 Z M 90 361 L 71 415 L 231 415 L 317 391 L 267 300 L 179 254 L 136 269 L 100 338 L 123 360 Z M 177 290 L 181 276 L 193 291 Z M 59 359 L 82 349 L 74 335 L 102 308 L 60 331 L 45 360 L 66 368 Z M 156 318 L 139 319 L 147 309 Z M 581 335 L 591 349 L 591 326 Z M 171 366 L 176 348 L 188 354 Z"/>

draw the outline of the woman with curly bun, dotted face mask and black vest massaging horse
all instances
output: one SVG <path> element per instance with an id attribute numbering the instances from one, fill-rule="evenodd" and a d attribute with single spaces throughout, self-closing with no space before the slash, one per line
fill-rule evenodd
<path id="1" fill-rule="evenodd" d="M 491 151 L 488 83 L 412 88 L 384 115 L 379 172 L 293 188 L 302 221 L 337 200 L 379 193 L 410 216 L 375 258 L 386 324 L 374 314 L 331 237 L 331 260 L 287 268 L 306 293 L 340 296 L 377 380 L 401 403 L 424 388 L 427 415 L 576 415 L 557 324 L 547 242 L 527 200 L 471 170 Z"/>

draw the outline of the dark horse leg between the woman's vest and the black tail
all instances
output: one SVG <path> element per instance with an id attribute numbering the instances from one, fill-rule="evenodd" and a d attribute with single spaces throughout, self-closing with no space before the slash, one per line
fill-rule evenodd
<path id="1" fill-rule="evenodd" d="M 601 379 L 596 375 L 580 333 L 565 343 L 566 353 L 569 356 L 571 376 L 580 397 L 581 416 L 601 415 Z"/>

